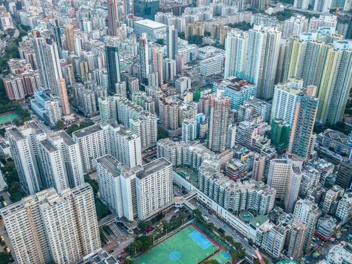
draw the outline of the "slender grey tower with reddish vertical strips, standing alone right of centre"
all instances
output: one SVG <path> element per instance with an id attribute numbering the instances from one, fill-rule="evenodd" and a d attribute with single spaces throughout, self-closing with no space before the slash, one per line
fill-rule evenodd
<path id="1" fill-rule="evenodd" d="M 216 93 L 209 95 L 208 148 L 214 152 L 221 152 L 226 147 L 231 99 L 224 93 L 223 88 L 218 88 Z"/>

